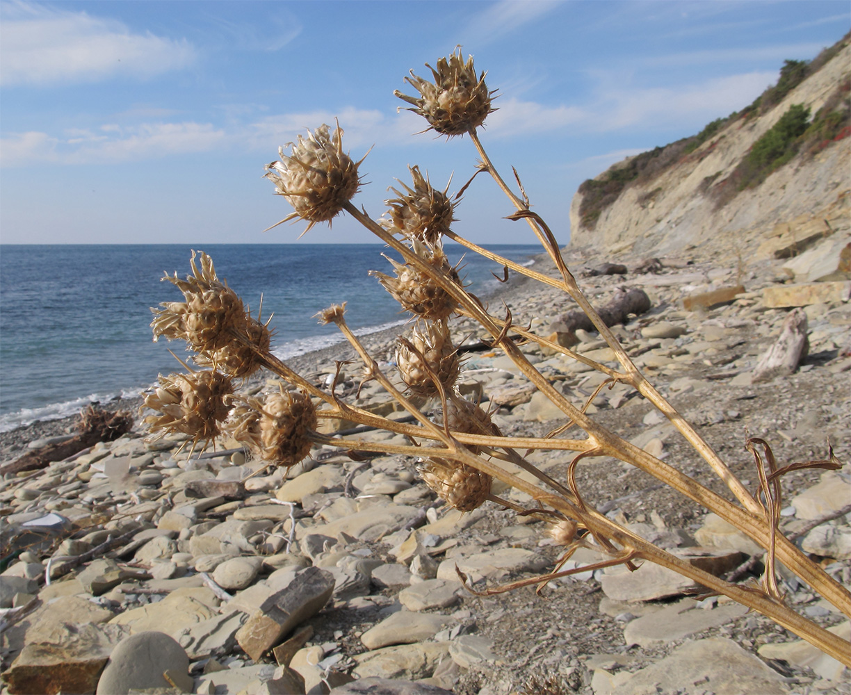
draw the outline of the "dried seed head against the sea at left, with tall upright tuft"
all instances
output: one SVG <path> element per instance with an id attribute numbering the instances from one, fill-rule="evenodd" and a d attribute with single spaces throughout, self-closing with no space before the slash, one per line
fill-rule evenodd
<path id="1" fill-rule="evenodd" d="M 186 280 L 180 280 L 177 273 L 163 277 L 180 289 L 186 301 L 163 302 L 160 309 L 151 309 L 151 328 L 155 341 L 164 335 L 169 340 L 186 340 L 192 350 L 214 353 L 231 343 L 233 333 L 245 333 L 247 318 L 243 300 L 216 276 L 213 259 L 203 251 L 199 254 L 201 269 L 193 251 L 193 274 Z"/>

